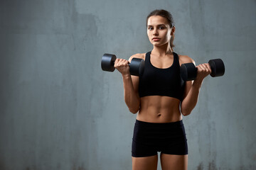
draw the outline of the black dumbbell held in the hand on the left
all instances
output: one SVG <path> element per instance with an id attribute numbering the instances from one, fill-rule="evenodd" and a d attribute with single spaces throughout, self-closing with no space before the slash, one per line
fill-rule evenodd
<path id="1" fill-rule="evenodd" d="M 115 55 L 104 54 L 102 56 L 101 67 L 103 71 L 114 72 L 114 61 L 117 59 Z M 139 76 L 144 72 L 144 60 L 133 58 L 129 63 L 129 72 L 131 75 Z"/>

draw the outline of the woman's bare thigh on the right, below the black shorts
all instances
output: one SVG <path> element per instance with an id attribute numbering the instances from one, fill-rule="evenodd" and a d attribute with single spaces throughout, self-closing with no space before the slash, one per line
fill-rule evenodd
<path id="1" fill-rule="evenodd" d="M 188 169 L 188 154 L 161 154 L 161 167 L 163 170 L 186 170 Z"/>

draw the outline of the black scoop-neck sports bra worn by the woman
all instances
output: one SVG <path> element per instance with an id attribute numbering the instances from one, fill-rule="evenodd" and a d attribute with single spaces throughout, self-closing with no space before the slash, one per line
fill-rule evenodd
<path id="1" fill-rule="evenodd" d="M 139 97 L 169 96 L 183 100 L 185 81 L 181 79 L 178 55 L 173 54 L 171 67 L 159 69 L 150 62 L 151 52 L 146 53 L 144 73 L 139 76 Z"/>

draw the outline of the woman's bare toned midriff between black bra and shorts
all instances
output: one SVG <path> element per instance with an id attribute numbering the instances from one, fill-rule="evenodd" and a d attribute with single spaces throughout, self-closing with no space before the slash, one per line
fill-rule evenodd
<path id="1" fill-rule="evenodd" d="M 137 120 L 149 123 L 171 123 L 182 120 L 180 101 L 169 96 L 145 96 L 140 98 L 141 108 Z"/>

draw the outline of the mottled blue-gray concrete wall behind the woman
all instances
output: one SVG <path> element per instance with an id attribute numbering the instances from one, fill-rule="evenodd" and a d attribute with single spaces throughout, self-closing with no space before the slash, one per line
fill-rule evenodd
<path id="1" fill-rule="evenodd" d="M 132 169 L 136 115 L 100 60 L 151 50 L 155 8 L 174 15 L 176 52 L 225 62 L 183 118 L 188 169 L 256 169 L 255 0 L 1 0 L 1 170 Z"/>

